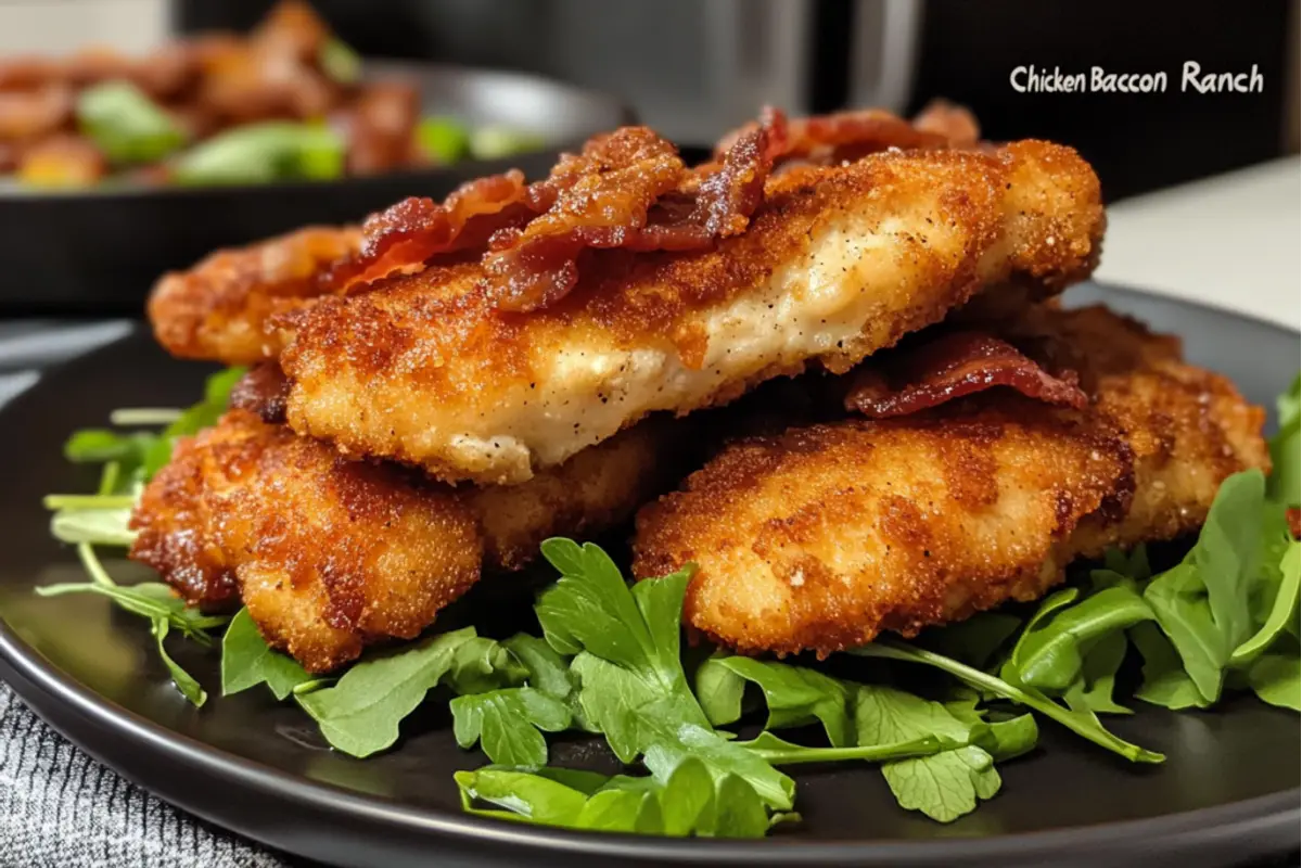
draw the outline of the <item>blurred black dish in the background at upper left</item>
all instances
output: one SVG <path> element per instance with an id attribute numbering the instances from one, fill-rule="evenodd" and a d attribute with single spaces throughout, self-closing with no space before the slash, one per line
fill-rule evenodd
<path id="1" fill-rule="evenodd" d="M 5 189 L 0 314 L 135 312 L 159 275 L 217 247 L 306 224 L 357 221 L 405 197 L 441 198 L 465 181 L 512 167 L 542 177 L 559 151 L 630 120 L 612 98 L 535 75 L 405 62 L 372 62 L 367 74 L 417 82 L 426 115 L 529 130 L 542 137 L 543 148 L 506 160 L 323 183 Z"/>

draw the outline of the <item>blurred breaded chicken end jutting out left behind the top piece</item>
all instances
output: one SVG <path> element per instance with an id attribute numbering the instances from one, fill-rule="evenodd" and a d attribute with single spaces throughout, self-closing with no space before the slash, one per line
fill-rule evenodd
<path id="1" fill-rule="evenodd" d="M 164 275 L 150 294 L 154 336 L 186 359 L 249 364 L 279 355 L 275 314 L 311 305 L 326 265 L 358 249 L 361 230 L 307 226 L 247 247 L 219 250 Z"/>

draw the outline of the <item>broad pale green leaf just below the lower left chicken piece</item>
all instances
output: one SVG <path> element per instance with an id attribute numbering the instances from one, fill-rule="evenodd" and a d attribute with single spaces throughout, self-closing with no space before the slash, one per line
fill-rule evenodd
<path id="1" fill-rule="evenodd" d="M 452 668 L 474 627 L 431 636 L 354 664 L 332 687 L 296 695 L 336 750 L 365 757 L 398 739 L 398 722 Z"/>

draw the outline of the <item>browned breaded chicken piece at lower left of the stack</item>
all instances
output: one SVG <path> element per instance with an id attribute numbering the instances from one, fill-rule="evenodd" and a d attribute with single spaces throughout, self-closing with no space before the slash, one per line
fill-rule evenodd
<path id="1" fill-rule="evenodd" d="M 146 487 L 132 558 L 208 609 L 242 600 L 310 671 L 410 639 L 480 574 L 516 570 L 557 534 L 626 519 L 672 484 L 677 433 L 648 420 L 533 481 L 452 488 L 229 411 L 182 440 Z"/>

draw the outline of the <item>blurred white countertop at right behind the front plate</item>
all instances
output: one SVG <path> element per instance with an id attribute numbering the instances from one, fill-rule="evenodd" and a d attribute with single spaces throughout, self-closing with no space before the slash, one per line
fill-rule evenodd
<path id="1" fill-rule="evenodd" d="M 1302 157 L 1116 203 L 1095 277 L 1302 332 Z"/>

